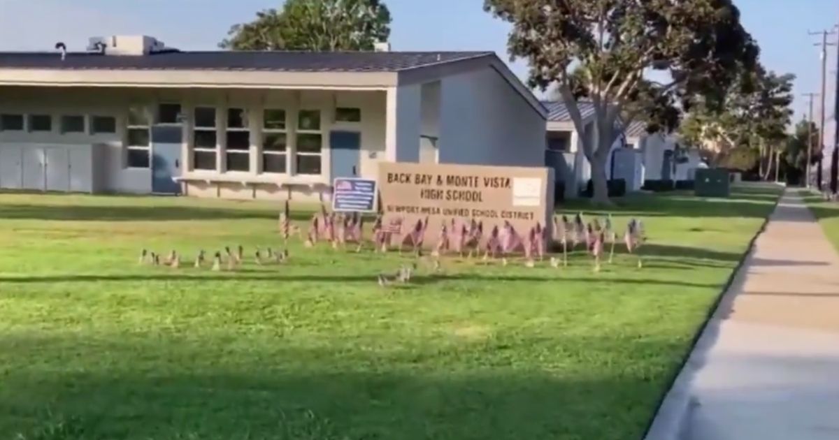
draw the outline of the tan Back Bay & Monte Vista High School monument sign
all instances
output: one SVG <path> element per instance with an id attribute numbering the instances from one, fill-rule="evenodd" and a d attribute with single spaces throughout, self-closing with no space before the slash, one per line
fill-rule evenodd
<path id="1" fill-rule="evenodd" d="M 552 168 L 386 162 L 378 174 L 384 223 L 402 219 L 407 232 L 428 217 L 426 247 L 434 245 L 442 222 L 451 225 L 452 219 L 458 225 L 482 222 L 485 239 L 504 220 L 519 233 L 537 223 L 550 230 L 553 182 Z"/>

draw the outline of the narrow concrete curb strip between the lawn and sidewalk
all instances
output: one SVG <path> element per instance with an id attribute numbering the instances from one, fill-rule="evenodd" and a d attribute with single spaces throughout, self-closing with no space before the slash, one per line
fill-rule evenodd
<path id="1" fill-rule="evenodd" d="M 766 226 L 769 225 L 769 218 L 778 209 L 778 204 L 784 197 L 786 191 L 787 189 L 784 188 L 784 191 L 775 200 L 771 212 L 763 219 L 763 225 L 760 226 L 758 232 L 749 241 L 747 250 L 743 252 L 740 261 L 737 261 L 737 267 L 728 276 L 726 283 L 723 285 L 722 293 L 709 309 L 705 322 L 702 323 L 700 331 L 693 339 L 690 351 L 685 355 L 685 359 L 682 360 L 677 370 L 678 373 L 675 375 L 673 384 L 662 396 L 658 409 L 656 409 L 653 418 L 650 419 L 647 425 L 644 440 L 677 440 L 685 433 L 685 422 L 692 406 L 690 385 L 693 382 L 696 371 L 705 363 L 706 354 L 716 341 L 719 332 L 719 325 L 712 324 L 711 321 L 721 313 L 720 305 L 725 301 L 732 301 L 736 296 L 732 291 L 732 285 L 738 278 L 745 277 L 746 274 L 742 269 L 746 261 L 753 255 L 755 242 L 766 231 Z"/>

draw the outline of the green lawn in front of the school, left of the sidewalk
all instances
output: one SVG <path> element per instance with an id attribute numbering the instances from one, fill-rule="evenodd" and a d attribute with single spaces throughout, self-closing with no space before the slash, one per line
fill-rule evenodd
<path id="1" fill-rule="evenodd" d="M 407 256 L 137 263 L 278 247 L 275 204 L 0 194 L 0 439 L 637 439 L 777 196 L 622 201 L 643 270 L 448 259 L 382 289 Z"/>

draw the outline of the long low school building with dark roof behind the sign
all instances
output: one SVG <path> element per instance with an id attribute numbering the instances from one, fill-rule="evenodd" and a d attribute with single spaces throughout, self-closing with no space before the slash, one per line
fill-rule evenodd
<path id="1" fill-rule="evenodd" d="M 544 166 L 547 111 L 498 56 L 378 50 L 0 53 L 0 187 L 316 200 L 380 161 Z"/>

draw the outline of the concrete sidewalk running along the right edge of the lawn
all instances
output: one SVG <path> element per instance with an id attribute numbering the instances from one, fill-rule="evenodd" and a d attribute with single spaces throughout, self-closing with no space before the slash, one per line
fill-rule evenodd
<path id="1" fill-rule="evenodd" d="M 787 190 L 647 440 L 839 439 L 839 254 Z"/>

